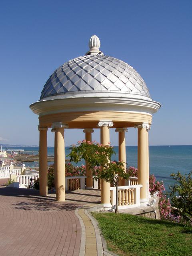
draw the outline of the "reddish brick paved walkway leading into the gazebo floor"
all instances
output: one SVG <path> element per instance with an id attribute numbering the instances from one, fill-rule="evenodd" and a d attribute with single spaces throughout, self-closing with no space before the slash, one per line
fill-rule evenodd
<path id="1" fill-rule="evenodd" d="M 67 193 L 63 203 L 53 197 L 0 188 L 0 255 L 79 255 L 81 225 L 75 209 L 100 203 L 100 192 L 76 190 Z"/>

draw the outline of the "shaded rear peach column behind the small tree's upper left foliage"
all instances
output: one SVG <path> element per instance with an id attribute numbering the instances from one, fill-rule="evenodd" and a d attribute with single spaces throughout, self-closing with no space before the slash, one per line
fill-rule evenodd
<path id="1" fill-rule="evenodd" d="M 94 132 L 93 129 L 89 129 L 89 128 L 86 128 L 83 130 L 83 132 L 85 133 L 85 139 L 86 139 L 86 142 L 91 142 L 92 141 L 92 132 Z M 92 181 L 92 170 L 89 168 L 89 164 L 88 162 L 86 161 L 85 162 L 85 165 L 86 165 L 86 189 L 92 189 L 93 188 L 93 181 Z"/>

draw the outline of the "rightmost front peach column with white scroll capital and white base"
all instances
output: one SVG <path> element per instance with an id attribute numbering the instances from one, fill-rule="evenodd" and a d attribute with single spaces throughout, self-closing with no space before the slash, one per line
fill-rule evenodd
<path id="1" fill-rule="evenodd" d="M 142 185 L 140 189 L 140 204 L 146 205 L 148 202 L 149 188 L 149 154 L 148 129 L 149 124 L 142 124 L 138 127 L 138 184 Z"/>

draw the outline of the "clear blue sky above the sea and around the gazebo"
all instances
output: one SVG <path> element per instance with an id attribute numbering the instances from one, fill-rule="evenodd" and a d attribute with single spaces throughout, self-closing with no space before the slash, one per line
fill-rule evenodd
<path id="1" fill-rule="evenodd" d="M 191 0 L 2 0 L 0 3 L 0 143 L 38 144 L 38 116 L 29 105 L 52 72 L 85 54 L 96 34 L 104 54 L 133 66 L 162 108 L 150 145 L 192 144 Z M 93 139 L 99 141 L 99 130 Z M 66 130 L 66 145 L 84 139 Z M 111 142 L 118 134 L 111 130 Z M 136 129 L 126 144 L 136 145 Z M 48 145 L 54 134 L 48 132 Z"/>

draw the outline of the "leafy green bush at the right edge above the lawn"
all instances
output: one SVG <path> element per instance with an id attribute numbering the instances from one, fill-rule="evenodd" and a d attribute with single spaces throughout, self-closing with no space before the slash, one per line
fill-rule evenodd
<path id="1" fill-rule="evenodd" d="M 176 184 L 169 186 L 174 212 L 192 222 L 192 171 L 185 175 L 180 172 L 172 173 L 170 176 L 177 181 Z"/>

